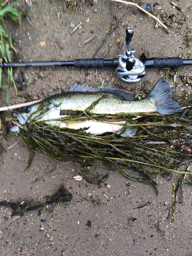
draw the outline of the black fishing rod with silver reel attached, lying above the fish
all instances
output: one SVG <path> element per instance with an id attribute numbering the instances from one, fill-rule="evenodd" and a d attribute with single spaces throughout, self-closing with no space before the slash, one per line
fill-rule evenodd
<path id="1" fill-rule="evenodd" d="M 192 59 L 183 59 L 180 57 L 168 58 L 146 58 L 143 54 L 142 60 L 135 58 L 130 48 L 130 42 L 134 31 L 132 28 L 126 29 L 125 50 L 119 58 L 103 59 L 74 59 L 72 61 L 39 61 L 39 62 L 4 62 L 0 63 L 0 68 L 14 67 L 75 67 L 75 68 L 95 68 L 102 69 L 105 67 L 116 68 L 117 76 L 125 82 L 137 82 L 145 75 L 145 68 L 179 68 L 183 65 L 192 65 Z"/>

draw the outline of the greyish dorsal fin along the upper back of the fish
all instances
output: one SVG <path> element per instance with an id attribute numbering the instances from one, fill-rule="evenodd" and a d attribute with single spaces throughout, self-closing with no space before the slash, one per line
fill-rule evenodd
<path id="1" fill-rule="evenodd" d="M 74 86 L 71 86 L 69 89 L 69 92 L 105 92 L 105 93 L 111 93 L 113 95 L 116 95 L 122 99 L 125 100 L 133 100 L 134 95 L 124 90 L 121 86 L 118 84 L 109 84 L 109 86 L 104 87 L 103 89 L 95 89 L 92 86 L 89 86 L 88 84 L 77 84 L 75 83 Z"/>

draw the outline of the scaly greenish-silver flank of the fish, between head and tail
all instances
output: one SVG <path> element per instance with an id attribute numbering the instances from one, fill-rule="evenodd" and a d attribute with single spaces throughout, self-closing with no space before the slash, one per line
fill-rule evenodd
<path id="1" fill-rule="evenodd" d="M 100 99 L 100 100 L 99 100 Z M 60 110 L 85 111 L 89 106 L 99 100 L 90 111 L 94 114 L 117 114 L 117 113 L 138 113 L 154 112 L 155 104 L 153 99 L 141 101 L 123 100 L 122 98 L 102 92 L 74 92 L 55 95 L 50 98 L 52 102 L 59 105 Z"/>

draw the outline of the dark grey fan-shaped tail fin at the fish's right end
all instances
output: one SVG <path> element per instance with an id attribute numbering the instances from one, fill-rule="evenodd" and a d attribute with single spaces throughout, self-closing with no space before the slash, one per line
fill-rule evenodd
<path id="1" fill-rule="evenodd" d="M 161 78 L 146 97 L 155 101 L 155 111 L 162 115 L 179 113 L 181 108 L 175 100 L 168 98 L 170 93 L 171 89 L 168 82 Z"/>

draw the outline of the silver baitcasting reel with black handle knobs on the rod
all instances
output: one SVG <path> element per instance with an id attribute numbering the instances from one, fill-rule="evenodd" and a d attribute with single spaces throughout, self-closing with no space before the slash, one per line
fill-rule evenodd
<path id="1" fill-rule="evenodd" d="M 126 29 L 125 50 L 119 55 L 118 67 L 115 72 L 118 77 L 125 82 L 137 82 L 145 75 L 145 65 L 133 55 L 136 51 L 131 51 L 130 42 L 133 36 L 133 29 Z"/>

